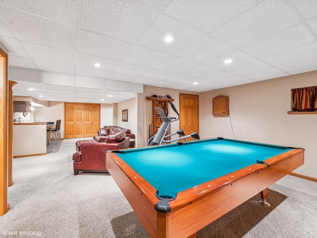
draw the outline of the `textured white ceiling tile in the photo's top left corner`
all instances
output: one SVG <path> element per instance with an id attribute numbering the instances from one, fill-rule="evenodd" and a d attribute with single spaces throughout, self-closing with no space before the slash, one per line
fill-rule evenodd
<path id="1" fill-rule="evenodd" d="M 32 13 L 68 25 L 77 25 L 78 0 L 63 1 L 56 4 L 56 0 L 2 0 L 1 4 L 21 11 Z"/>

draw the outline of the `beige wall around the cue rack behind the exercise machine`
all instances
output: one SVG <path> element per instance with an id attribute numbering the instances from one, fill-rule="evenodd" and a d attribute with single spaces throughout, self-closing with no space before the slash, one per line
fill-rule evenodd
<path id="1" fill-rule="evenodd" d="M 189 92 L 184 90 L 176 90 L 171 88 L 160 88 L 160 87 L 153 87 L 144 85 L 143 93 L 138 94 L 138 139 L 137 139 L 137 146 L 145 146 L 148 140 L 148 133 L 149 133 L 149 123 L 147 118 L 147 114 L 149 112 L 149 104 L 152 101 L 146 99 L 146 97 L 151 97 L 152 95 L 170 95 L 174 99 L 174 106 L 179 112 L 179 94 L 180 93 L 187 93 L 187 94 L 195 94 L 200 95 L 200 93 L 196 92 Z M 177 118 L 176 113 L 171 109 L 169 110 L 168 117 L 175 117 Z M 171 133 L 176 132 L 179 130 L 179 121 L 175 121 L 171 123 Z"/>

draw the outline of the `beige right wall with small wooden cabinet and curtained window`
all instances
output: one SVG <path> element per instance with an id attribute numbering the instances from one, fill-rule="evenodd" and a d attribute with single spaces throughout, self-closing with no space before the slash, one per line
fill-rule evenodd
<path id="1" fill-rule="evenodd" d="M 201 138 L 225 137 L 305 149 L 295 173 L 317 178 L 317 115 L 288 115 L 291 89 L 316 86 L 317 71 L 201 94 Z M 229 96 L 230 118 L 213 118 L 212 98 Z M 232 124 L 232 128 L 231 128 Z"/>

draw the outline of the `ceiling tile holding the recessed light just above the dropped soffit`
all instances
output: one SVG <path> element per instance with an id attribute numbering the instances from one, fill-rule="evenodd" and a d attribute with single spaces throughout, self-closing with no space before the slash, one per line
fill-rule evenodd
<path id="1" fill-rule="evenodd" d="M 90 56 L 86 54 L 78 53 L 77 65 L 84 68 L 92 68 L 104 71 L 112 71 L 114 67 L 119 63 L 118 60 L 110 60 L 97 56 Z M 100 67 L 96 67 L 95 63 L 99 63 Z"/>

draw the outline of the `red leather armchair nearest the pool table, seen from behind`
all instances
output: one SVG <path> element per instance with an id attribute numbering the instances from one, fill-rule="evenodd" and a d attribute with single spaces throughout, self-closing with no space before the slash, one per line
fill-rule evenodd
<path id="1" fill-rule="evenodd" d="M 82 172 L 106 173 L 106 151 L 129 148 L 130 137 L 118 142 L 106 143 L 96 140 L 76 141 L 76 151 L 73 154 L 74 175 Z"/>

